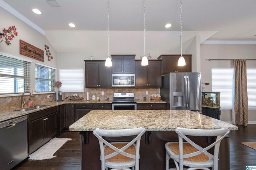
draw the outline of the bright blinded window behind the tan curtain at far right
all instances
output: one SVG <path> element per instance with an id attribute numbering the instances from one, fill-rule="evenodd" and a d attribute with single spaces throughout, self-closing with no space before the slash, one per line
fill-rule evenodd
<path id="1" fill-rule="evenodd" d="M 233 68 L 212 68 L 212 92 L 220 92 L 222 109 L 232 108 Z M 256 109 L 256 68 L 247 68 L 248 108 Z"/>

